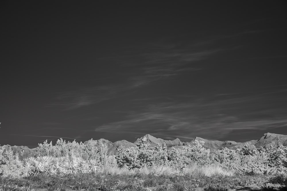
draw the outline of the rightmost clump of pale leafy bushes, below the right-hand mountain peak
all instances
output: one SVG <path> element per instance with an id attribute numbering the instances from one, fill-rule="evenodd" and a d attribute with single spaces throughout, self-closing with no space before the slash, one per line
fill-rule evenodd
<path id="1" fill-rule="evenodd" d="M 279 142 L 276 145 L 257 149 L 254 145 L 245 144 L 237 151 L 224 148 L 216 151 L 211 158 L 213 163 L 219 163 L 237 174 L 282 173 L 286 171 L 283 166 L 286 147 Z"/>

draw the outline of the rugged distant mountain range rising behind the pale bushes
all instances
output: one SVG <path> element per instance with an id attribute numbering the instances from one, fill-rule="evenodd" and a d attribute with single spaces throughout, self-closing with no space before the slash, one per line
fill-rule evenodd
<path id="1" fill-rule="evenodd" d="M 182 142 L 180 139 L 174 139 L 174 140 L 164 140 L 161 138 L 156 138 L 150 134 L 145 135 L 144 137 L 138 138 L 134 143 L 131 143 L 126 140 L 111 142 L 106 139 L 99 139 L 99 140 L 91 140 L 95 146 L 99 146 L 100 143 L 106 144 L 108 146 L 108 153 L 115 154 L 117 153 L 118 148 L 131 148 L 135 147 L 139 144 L 139 141 L 143 138 L 146 138 L 146 143 L 150 146 L 156 146 L 158 144 L 166 143 L 166 146 L 170 149 L 172 147 L 182 147 L 183 145 L 187 144 L 193 144 L 194 140 L 198 141 L 204 141 L 203 147 L 206 149 L 210 149 L 210 151 L 215 151 L 217 149 L 222 149 L 224 147 L 227 147 L 229 149 L 240 149 L 245 143 L 249 143 L 249 145 L 255 145 L 255 147 L 270 147 L 270 145 L 274 145 L 276 141 L 280 141 L 282 145 L 287 146 L 287 135 L 280 135 L 275 133 L 265 133 L 260 139 L 258 140 L 252 140 L 247 141 L 244 143 L 238 143 L 235 141 L 217 141 L 217 140 L 207 140 L 200 137 L 195 137 L 190 142 Z M 85 141 L 84 144 L 87 144 L 88 141 Z M 11 145 L 5 145 L 6 149 L 11 147 L 11 149 L 14 152 L 20 153 L 21 156 L 25 157 L 27 156 L 31 151 L 33 151 L 36 148 L 30 149 L 27 146 L 11 146 Z"/>

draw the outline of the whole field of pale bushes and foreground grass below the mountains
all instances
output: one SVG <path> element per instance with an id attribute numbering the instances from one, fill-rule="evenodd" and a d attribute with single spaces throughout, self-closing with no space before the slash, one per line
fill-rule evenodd
<path id="1" fill-rule="evenodd" d="M 142 140 L 135 148 L 107 153 L 92 142 L 39 144 L 23 158 L 0 147 L 2 190 L 287 190 L 287 148 L 244 145 L 214 153 L 194 145 L 168 150 Z"/>

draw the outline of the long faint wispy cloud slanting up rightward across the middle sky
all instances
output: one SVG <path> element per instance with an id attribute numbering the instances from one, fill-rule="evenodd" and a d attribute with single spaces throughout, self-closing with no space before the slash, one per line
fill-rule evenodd
<path id="1" fill-rule="evenodd" d="M 195 67 L 192 63 L 207 59 L 210 55 L 220 51 L 220 49 L 195 51 L 168 46 L 157 48 L 156 51 L 142 52 L 145 49 L 146 47 L 142 47 L 135 50 L 133 56 L 129 54 L 101 58 L 105 61 L 120 63 L 118 72 L 102 76 L 105 78 L 112 76 L 110 80 L 101 85 L 90 84 L 85 85 L 85 88 L 75 87 L 71 91 L 59 92 L 59 96 L 47 107 L 63 107 L 66 111 L 74 110 L 129 95 L 133 89 L 141 88 L 152 82 L 202 70 L 203 68 Z"/>

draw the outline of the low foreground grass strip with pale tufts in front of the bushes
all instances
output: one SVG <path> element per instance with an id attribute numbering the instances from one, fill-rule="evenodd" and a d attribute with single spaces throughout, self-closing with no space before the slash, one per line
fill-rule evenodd
<path id="1" fill-rule="evenodd" d="M 0 177 L 0 191 L 19 190 L 32 188 L 46 188 L 54 190 L 147 190 L 148 187 L 156 187 L 158 191 L 193 190 L 197 187 L 205 190 L 224 190 L 245 186 L 248 184 L 262 183 L 270 179 L 267 176 L 238 176 L 227 174 L 207 173 L 208 168 L 196 166 L 185 173 L 173 172 L 171 167 L 158 166 L 141 170 L 127 170 L 117 167 L 105 167 L 96 173 L 45 175 L 39 174 L 25 178 L 9 179 Z M 216 169 L 216 168 L 215 168 Z M 157 173 L 154 173 L 157 172 Z M 160 173 L 161 172 L 161 173 Z M 191 172 L 197 172 L 191 174 Z M 220 172 L 217 170 L 215 172 Z"/>

